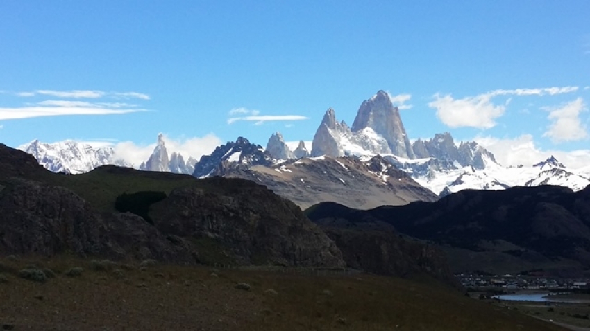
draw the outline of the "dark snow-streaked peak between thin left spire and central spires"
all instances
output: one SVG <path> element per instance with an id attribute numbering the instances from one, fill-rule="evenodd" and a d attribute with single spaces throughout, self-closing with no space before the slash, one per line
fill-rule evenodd
<path id="1" fill-rule="evenodd" d="M 276 160 L 262 146 L 244 137 L 218 146 L 210 155 L 203 155 L 194 165 L 192 175 L 197 178 L 224 175 L 228 168 L 249 168 L 253 165 L 271 166 Z"/>

